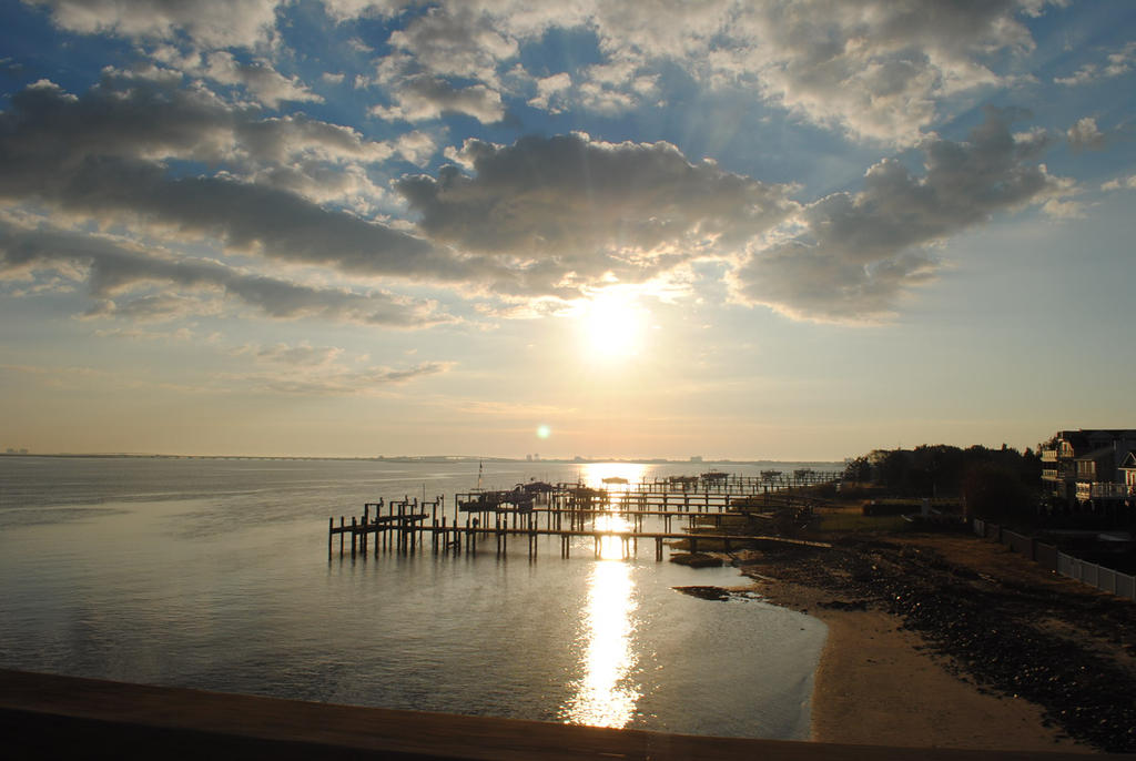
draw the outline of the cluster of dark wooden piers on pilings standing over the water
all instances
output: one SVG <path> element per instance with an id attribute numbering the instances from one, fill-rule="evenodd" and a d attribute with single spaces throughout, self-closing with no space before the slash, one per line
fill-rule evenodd
<path id="1" fill-rule="evenodd" d="M 708 475 L 716 477 L 707 478 Z M 794 497 L 792 488 L 775 488 L 771 483 L 765 477 L 703 474 L 642 482 L 618 490 L 582 484 L 520 484 L 508 491 L 459 493 L 454 495 L 452 516 L 446 515 L 442 496 L 433 501 L 379 500 L 365 504 L 362 516 L 352 517 L 350 524 L 343 516 L 339 526 L 334 518 L 328 519 L 327 554 L 328 559 L 333 557 L 336 536 L 340 555 L 350 552 L 352 558 L 369 552 L 377 557 L 381 550 L 412 553 L 427 545 L 434 553 L 476 554 L 479 545 L 487 549 L 488 542 L 502 557 L 508 553 L 510 540 L 524 538 L 529 559 L 535 560 L 542 540 L 552 536 L 560 541 L 561 558 L 570 557 L 574 542 L 585 540 L 586 546 L 586 540 L 591 538 L 596 558 L 610 552 L 605 547 L 613 542 L 618 542 L 621 558 L 634 558 L 643 541 L 646 545 L 653 543 L 657 561 L 663 559 L 663 543 L 668 541 L 685 541 L 691 552 L 698 552 L 699 543 L 703 547 L 720 546 L 727 552 L 762 543 L 817 545 L 766 534 L 721 530 L 726 519 L 753 525 L 771 518 L 774 510 L 811 509 L 811 497 Z M 699 486 L 702 488 L 695 488 Z M 611 526 L 612 519 L 625 526 Z M 608 526 L 601 525 L 604 520 Z M 654 522 L 653 529 L 645 526 L 648 520 Z M 684 522 L 685 532 L 675 530 L 676 524 Z"/>

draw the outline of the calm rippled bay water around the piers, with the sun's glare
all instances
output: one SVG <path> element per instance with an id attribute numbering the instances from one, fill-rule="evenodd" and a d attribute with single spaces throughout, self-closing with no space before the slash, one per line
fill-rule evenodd
<path id="1" fill-rule="evenodd" d="M 484 486 L 699 466 L 486 463 Z M 757 475 L 758 468 L 727 468 Z M 825 627 L 704 601 L 734 569 L 593 557 L 327 560 L 328 516 L 477 465 L 0 458 L 0 666 L 523 719 L 804 738 Z M 337 545 L 336 545 L 337 546 Z M 485 545 L 483 545 L 485 546 Z M 605 553 L 607 555 L 608 553 Z M 618 550 L 615 552 L 618 558 Z"/>

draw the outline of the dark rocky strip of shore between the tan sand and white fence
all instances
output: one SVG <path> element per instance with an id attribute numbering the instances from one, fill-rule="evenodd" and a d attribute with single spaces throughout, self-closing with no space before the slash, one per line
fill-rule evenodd
<path id="1" fill-rule="evenodd" d="M 959 541 L 967 542 L 950 540 Z M 894 617 L 960 677 L 1036 703 L 1045 722 L 1080 742 L 1136 752 L 1136 605 L 1067 579 L 1035 583 L 1031 569 L 1008 576 L 954 562 L 928 536 L 775 547 L 742 568 L 819 591 L 816 604 L 832 611 Z"/>

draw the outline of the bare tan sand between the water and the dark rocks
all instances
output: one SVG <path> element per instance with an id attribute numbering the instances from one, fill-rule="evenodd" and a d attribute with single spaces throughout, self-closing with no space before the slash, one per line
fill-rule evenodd
<path id="1" fill-rule="evenodd" d="M 765 565 L 742 560 L 738 568 L 752 580 L 750 589 L 766 601 L 828 627 L 813 674 L 812 742 L 1096 752 L 1047 721 L 1041 705 L 999 695 L 964 676 L 950 657 L 933 654 L 930 644 L 902 628 L 899 617 L 828 589 L 772 577 L 770 570 L 776 569 Z"/>

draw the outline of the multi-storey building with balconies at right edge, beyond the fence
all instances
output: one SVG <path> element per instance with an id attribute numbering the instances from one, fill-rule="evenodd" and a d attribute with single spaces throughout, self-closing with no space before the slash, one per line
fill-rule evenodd
<path id="1" fill-rule="evenodd" d="M 1069 507 L 1136 502 L 1136 429 L 1059 430 L 1038 450 L 1043 484 Z"/>

